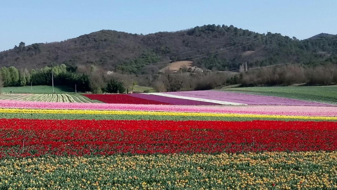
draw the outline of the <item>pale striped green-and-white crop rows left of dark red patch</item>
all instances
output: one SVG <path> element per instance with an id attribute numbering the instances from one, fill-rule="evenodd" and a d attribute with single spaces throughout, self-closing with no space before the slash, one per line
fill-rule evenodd
<path id="1" fill-rule="evenodd" d="M 102 103 L 98 100 L 91 100 L 79 94 L 77 95 L 75 94 L 7 94 L 7 95 L 0 95 L 0 100 Z"/>

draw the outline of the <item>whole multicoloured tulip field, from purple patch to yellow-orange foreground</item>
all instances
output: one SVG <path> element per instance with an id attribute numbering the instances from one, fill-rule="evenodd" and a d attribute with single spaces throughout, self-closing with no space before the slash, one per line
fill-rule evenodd
<path id="1" fill-rule="evenodd" d="M 0 98 L 0 189 L 337 189 L 331 102 L 79 96 L 87 101 Z"/>

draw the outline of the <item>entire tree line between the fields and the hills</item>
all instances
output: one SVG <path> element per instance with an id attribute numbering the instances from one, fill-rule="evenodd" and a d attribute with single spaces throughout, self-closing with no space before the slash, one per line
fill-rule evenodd
<path id="1" fill-rule="evenodd" d="M 2 67 L 0 76 L 4 87 L 26 85 L 68 86 L 80 92 L 125 93 L 125 87 L 134 84 L 153 87 L 158 92 L 210 90 L 226 85 L 275 86 L 275 85 L 334 85 L 337 84 L 337 65 L 322 64 L 306 66 L 301 64 L 280 65 L 254 69 L 242 64 L 238 72 L 217 71 L 210 73 L 189 73 L 184 70 L 165 72 L 161 75 L 114 75 L 104 74 L 95 66 L 78 68 L 61 64 L 35 70 L 18 70 Z M 249 69 L 248 69 L 249 68 Z"/>

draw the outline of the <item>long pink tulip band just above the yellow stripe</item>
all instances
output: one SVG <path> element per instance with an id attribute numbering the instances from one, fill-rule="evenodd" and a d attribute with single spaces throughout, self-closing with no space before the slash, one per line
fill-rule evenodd
<path id="1" fill-rule="evenodd" d="M 76 109 L 76 110 L 127 110 L 164 112 L 242 113 L 266 115 L 337 116 L 336 106 L 294 105 L 142 105 L 142 104 L 98 104 L 66 102 L 28 102 L 0 100 L 0 108 L 19 109 Z"/>

